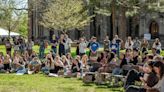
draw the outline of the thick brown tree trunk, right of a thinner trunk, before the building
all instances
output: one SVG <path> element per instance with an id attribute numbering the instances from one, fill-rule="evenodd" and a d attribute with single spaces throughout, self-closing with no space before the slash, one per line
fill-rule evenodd
<path id="1" fill-rule="evenodd" d="M 126 8 L 125 7 L 120 7 L 120 15 L 119 15 L 119 37 L 122 40 L 126 40 L 127 36 L 127 22 L 126 22 Z"/>

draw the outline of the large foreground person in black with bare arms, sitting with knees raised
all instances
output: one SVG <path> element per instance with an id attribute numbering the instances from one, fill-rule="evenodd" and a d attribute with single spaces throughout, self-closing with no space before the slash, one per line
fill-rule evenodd
<path id="1" fill-rule="evenodd" d="M 129 72 L 125 83 L 125 88 L 127 88 L 127 92 L 146 92 L 146 89 L 144 88 L 145 86 L 153 87 L 158 83 L 158 77 L 153 70 L 154 63 L 155 62 L 150 61 L 148 64 L 145 64 L 143 67 L 143 73 L 137 72 L 136 70 L 132 70 Z M 143 87 L 138 88 L 136 86 L 132 86 L 134 85 L 135 81 L 141 81 Z"/>

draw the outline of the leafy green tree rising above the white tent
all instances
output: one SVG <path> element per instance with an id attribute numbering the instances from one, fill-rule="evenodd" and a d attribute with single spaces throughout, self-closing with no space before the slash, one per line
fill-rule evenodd
<path id="1" fill-rule="evenodd" d="M 18 4 L 22 4 L 22 1 L 0 0 L 0 26 L 9 31 L 9 36 L 11 31 L 17 31 L 20 18 L 24 14 L 23 10 L 17 10 Z"/>

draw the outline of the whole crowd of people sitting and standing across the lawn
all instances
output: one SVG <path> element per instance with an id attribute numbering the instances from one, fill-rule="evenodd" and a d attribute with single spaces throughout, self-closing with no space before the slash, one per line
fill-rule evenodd
<path id="1" fill-rule="evenodd" d="M 132 40 L 129 36 L 124 42 L 115 35 L 110 41 L 106 36 L 104 51 L 98 51 L 100 43 L 96 37 L 89 41 L 81 37 L 76 44 L 75 57 L 71 54 L 72 43 L 67 34 L 61 34 L 60 37 L 53 35 L 50 42 L 40 39 L 39 53 L 36 53 L 31 39 L 25 41 L 19 37 L 13 42 L 7 39 L 7 54 L 0 52 L 0 72 L 21 75 L 42 72 L 49 76 L 58 76 L 59 72 L 63 72 L 63 75 L 78 77 L 85 76 L 85 72 L 105 72 L 127 76 L 124 86 L 127 92 L 164 92 L 164 58 L 160 55 L 162 44 L 158 38 L 151 46 L 146 39 Z M 45 53 L 49 45 L 51 51 Z M 125 48 L 125 52 L 120 52 L 122 48 Z M 124 71 L 122 68 L 125 65 L 135 65 L 138 68 Z M 135 87 L 135 81 L 141 81 L 143 86 Z"/>

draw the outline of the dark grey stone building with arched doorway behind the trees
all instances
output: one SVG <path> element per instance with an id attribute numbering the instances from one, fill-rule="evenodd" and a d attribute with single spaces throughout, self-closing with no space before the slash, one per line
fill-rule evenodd
<path id="1" fill-rule="evenodd" d="M 119 16 L 119 15 L 118 15 Z M 53 34 L 60 35 L 60 31 L 44 28 L 39 24 L 40 14 L 36 9 L 29 14 L 29 38 L 33 40 L 46 37 L 51 39 Z M 90 23 L 85 30 L 71 30 L 68 32 L 69 36 L 73 40 L 79 39 L 81 36 L 85 36 L 89 39 L 92 36 L 96 36 L 100 42 L 103 41 L 106 35 L 110 39 L 113 37 L 111 16 L 96 15 L 94 21 Z M 119 17 L 116 17 L 116 33 L 119 34 Z M 164 40 L 164 14 L 162 13 L 149 13 L 140 14 L 139 16 L 126 18 L 127 31 L 122 34 L 132 36 L 133 38 L 143 38 L 144 34 L 151 34 L 151 39 L 159 37 Z M 125 37 L 125 38 L 126 38 Z"/>

